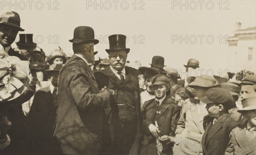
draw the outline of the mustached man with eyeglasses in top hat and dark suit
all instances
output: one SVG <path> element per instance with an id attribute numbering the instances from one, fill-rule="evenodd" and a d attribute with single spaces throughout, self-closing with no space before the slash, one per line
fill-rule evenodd
<path id="1" fill-rule="evenodd" d="M 130 49 L 126 48 L 126 36 L 113 34 L 108 37 L 110 66 L 95 72 L 99 89 L 108 87 L 115 91 L 110 98 L 110 108 L 107 111 L 108 123 L 113 147 L 109 147 L 110 154 L 128 155 L 138 132 L 140 118 L 140 86 L 137 70 L 126 67 L 125 62 Z M 114 139 L 117 138 L 117 139 Z M 128 140 L 127 145 L 122 144 L 122 139 Z"/>

